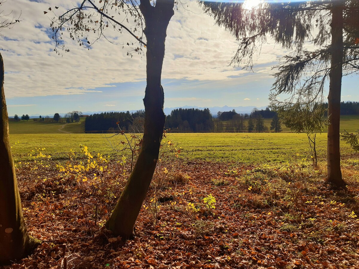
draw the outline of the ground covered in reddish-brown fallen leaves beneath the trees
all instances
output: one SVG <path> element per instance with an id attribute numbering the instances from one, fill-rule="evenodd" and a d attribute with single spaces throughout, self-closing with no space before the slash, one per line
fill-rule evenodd
<path id="1" fill-rule="evenodd" d="M 109 161 L 101 180 L 91 169 L 80 179 L 60 173 L 52 160 L 17 164 L 28 231 L 42 244 L 4 268 L 63 268 L 64 247 L 67 268 L 359 268 L 356 162 L 343 167 L 347 192 L 323 183 L 325 169 L 295 159 L 163 167 L 135 236 L 123 242 L 103 224 L 126 184 L 127 164 Z M 215 208 L 204 203 L 210 194 Z"/>

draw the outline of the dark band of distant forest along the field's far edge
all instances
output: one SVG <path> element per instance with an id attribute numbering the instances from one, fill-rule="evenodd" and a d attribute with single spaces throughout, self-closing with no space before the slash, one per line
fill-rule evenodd
<path id="1" fill-rule="evenodd" d="M 324 104 L 328 107 L 328 104 Z M 359 102 L 341 102 L 341 115 L 358 115 Z M 217 118 L 212 117 L 210 110 L 206 109 L 174 109 L 167 115 L 165 128 L 173 131 L 281 131 L 280 119 L 275 111 L 266 109 L 253 109 L 251 113 L 238 114 L 235 110 L 219 111 Z M 106 112 L 93 114 L 85 120 L 85 132 L 103 131 L 131 131 L 142 132 L 144 124 L 144 110 L 130 112 Z M 271 118 L 271 126 L 265 126 L 264 118 Z M 274 125 L 277 126 L 273 129 Z"/>

